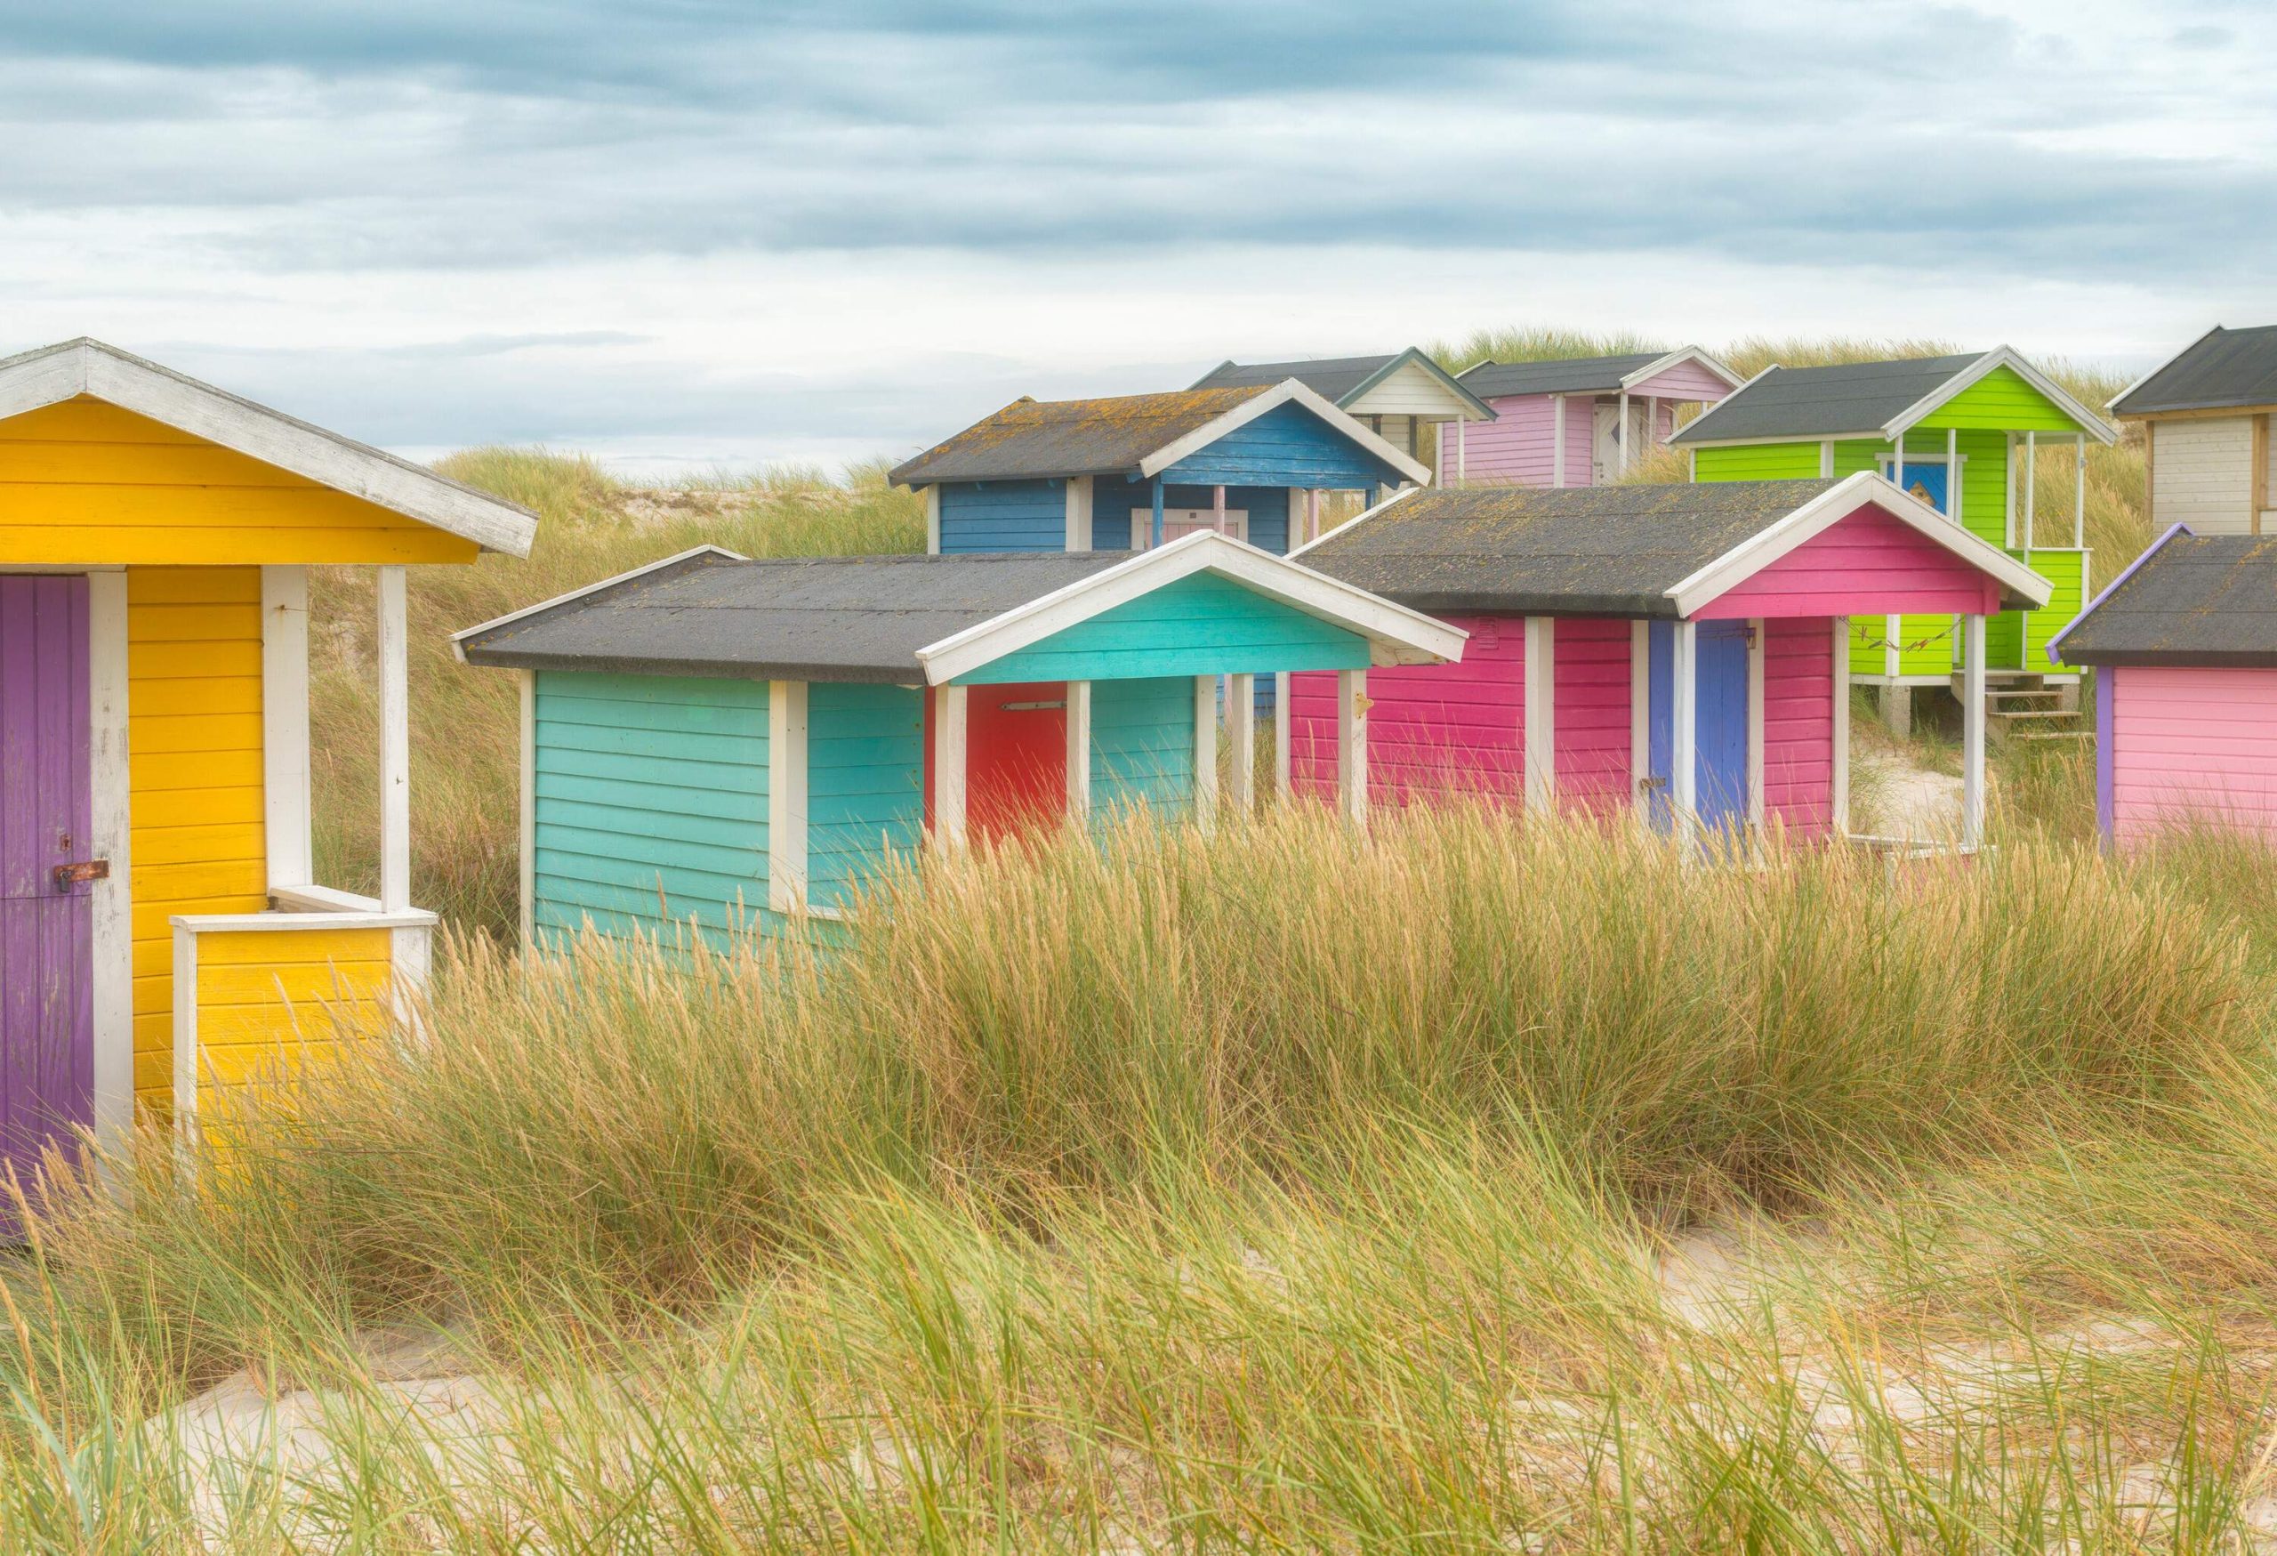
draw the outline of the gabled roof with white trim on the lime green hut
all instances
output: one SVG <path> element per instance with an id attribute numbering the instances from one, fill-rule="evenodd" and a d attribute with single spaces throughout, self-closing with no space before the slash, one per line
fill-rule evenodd
<path id="1" fill-rule="evenodd" d="M 1767 367 L 1669 437 L 1676 447 L 1799 437 L 1897 437 L 1986 374 L 2008 367 L 2099 442 L 2118 433 L 2008 346 L 1986 353 Z"/>

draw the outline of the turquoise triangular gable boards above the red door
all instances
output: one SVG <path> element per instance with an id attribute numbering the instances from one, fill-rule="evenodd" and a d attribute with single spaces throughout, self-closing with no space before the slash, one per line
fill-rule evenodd
<path id="1" fill-rule="evenodd" d="M 1216 574 L 1193 574 L 1102 611 L 1041 642 L 956 677 L 1006 681 L 1118 681 L 1277 670 L 1359 670 L 1359 633 L 1305 615 Z"/>

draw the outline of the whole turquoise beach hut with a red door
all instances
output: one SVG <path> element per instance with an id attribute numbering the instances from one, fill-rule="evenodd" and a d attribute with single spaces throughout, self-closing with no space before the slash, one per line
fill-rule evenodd
<path id="1" fill-rule="evenodd" d="M 745 560 L 717 547 L 455 638 L 521 674 L 533 943 L 845 916 L 888 859 L 1063 816 L 1252 802 L 1252 677 L 1462 631 L 1216 533 L 1129 554 Z M 1350 731 L 1357 740 L 1362 731 Z"/>

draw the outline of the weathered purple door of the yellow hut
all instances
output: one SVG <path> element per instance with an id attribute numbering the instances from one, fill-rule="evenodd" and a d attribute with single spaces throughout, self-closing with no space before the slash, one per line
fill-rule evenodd
<path id="1" fill-rule="evenodd" d="M 87 579 L 0 576 L 0 1171 L 93 1123 Z M 16 1235 L 0 1198 L 0 1235 Z"/>

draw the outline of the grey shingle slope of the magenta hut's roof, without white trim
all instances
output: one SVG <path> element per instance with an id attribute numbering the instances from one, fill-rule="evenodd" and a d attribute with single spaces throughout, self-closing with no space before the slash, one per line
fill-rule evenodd
<path id="1" fill-rule="evenodd" d="M 1835 485 L 1428 488 L 1300 560 L 1414 611 L 1674 617 L 1669 588 Z"/>

